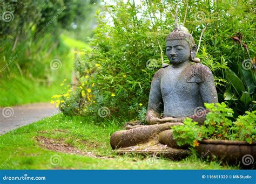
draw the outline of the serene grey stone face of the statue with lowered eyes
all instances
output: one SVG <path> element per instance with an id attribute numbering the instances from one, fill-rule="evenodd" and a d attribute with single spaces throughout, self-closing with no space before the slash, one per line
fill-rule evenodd
<path id="1" fill-rule="evenodd" d="M 190 61 L 190 45 L 185 40 L 168 40 L 166 55 L 173 65 Z"/>

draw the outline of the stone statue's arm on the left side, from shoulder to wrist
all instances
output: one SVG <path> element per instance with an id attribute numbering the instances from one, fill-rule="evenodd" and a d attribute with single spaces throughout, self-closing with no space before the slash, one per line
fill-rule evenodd
<path id="1" fill-rule="evenodd" d="M 151 89 L 149 95 L 149 105 L 147 106 L 146 122 L 149 124 L 157 124 L 160 119 L 160 114 L 163 111 L 164 103 L 161 95 L 160 82 L 161 82 L 161 72 L 163 68 L 159 69 L 156 74 L 154 74 Z"/>

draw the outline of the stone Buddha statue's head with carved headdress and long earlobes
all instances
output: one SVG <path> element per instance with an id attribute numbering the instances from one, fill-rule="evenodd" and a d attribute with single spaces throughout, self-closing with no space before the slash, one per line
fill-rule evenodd
<path id="1" fill-rule="evenodd" d="M 200 62 L 196 58 L 197 45 L 184 26 L 176 27 L 166 38 L 166 54 L 172 64 L 186 61 Z"/>

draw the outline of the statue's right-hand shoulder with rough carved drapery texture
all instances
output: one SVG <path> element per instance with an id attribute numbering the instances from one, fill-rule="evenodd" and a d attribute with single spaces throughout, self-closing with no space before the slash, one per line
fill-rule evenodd
<path id="1" fill-rule="evenodd" d="M 193 63 L 188 72 L 187 82 L 203 82 L 207 78 L 212 77 L 210 68 L 202 63 Z"/>

